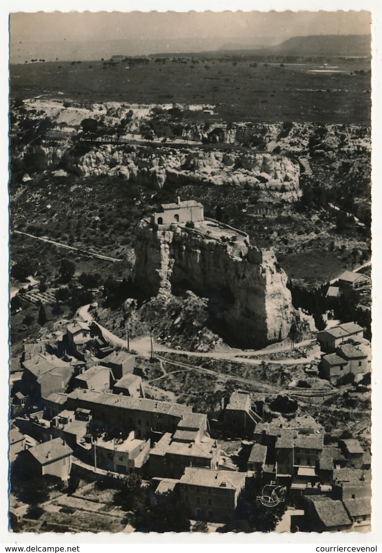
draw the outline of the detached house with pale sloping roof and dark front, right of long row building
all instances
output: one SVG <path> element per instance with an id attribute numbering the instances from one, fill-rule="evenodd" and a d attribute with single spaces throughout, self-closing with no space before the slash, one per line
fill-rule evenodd
<path id="1" fill-rule="evenodd" d="M 237 436 L 252 436 L 256 423 L 261 417 L 251 408 L 251 394 L 233 392 L 224 411 L 225 427 L 229 427 Z"/>

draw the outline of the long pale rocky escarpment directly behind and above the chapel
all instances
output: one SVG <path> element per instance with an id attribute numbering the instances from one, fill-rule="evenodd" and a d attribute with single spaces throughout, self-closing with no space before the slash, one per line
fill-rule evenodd
<path id="1" fill-rule="evenodd" d="M 81 176 L 118 175 L 160 189 L 166 182 L 249 186 L 269 200 L 269 194 L 285 201 L 300 195 L 297 161 L 269 153 L 206 152 L 196 149 L 159 151 L 115 148 L 105 145 L 78 159 Z"/>

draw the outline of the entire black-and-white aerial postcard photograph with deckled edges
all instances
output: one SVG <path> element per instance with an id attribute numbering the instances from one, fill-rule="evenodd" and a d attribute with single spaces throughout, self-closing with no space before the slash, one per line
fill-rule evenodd
<path id="1" fill-rule="evenodd" d="M 376 530 L 372 25 L 10 13 L 11 536 Z"/>

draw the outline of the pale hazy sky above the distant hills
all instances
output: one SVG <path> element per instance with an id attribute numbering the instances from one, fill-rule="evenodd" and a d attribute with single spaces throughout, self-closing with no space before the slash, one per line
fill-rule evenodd
<path id="1" fill-rule="evenodd" d="M 14 41 L 368 34 L 368 12 L 13 13 Z"/>

